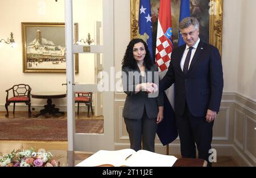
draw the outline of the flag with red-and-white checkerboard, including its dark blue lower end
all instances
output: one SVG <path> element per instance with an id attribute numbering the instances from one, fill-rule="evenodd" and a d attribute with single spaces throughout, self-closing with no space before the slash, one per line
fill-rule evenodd
<path id="1" fill-rule="evenodd" d="M 171 61 L 172 49 L 171 0 L 160 0 L 155 56 L 155 63 L 160 72 L 160 79 L 166 75 Z M 174 84 L 164 92 L 164 118 L 158 124 L 158 130 L 156 132 L 163 145 L 168 145 L 178 135 L 173 107 Z"/>

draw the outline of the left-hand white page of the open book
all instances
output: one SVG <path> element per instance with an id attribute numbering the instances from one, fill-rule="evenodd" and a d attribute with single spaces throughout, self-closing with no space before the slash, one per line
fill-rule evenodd
<path id="1" fill-rule="evenodd" d="M 115 151 L 100 150 L 94 153 L 89 158 L 83 160 L 76 166 L 81 167 L 93 167 L 100 166 L 102 164 L 111 164 L 113 166 L 122 166 L 125 163 L 125 158 L 134 154 L 133 149 L 123 149 Z"/>

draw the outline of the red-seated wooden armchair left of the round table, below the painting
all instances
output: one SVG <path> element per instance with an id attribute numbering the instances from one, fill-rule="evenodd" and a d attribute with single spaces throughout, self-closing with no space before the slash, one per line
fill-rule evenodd
<path id="1" fill-rule="evenodd" d="M 13 92 L 13 97 L 9 98 L 9 91 Z M 5 108 L 7 111 L 7 114 L 5 115 L 6 117 L 9 117 L 9 112 L 8 112 L 8 106 L 13 103 L 13 113 L 15 111 L 15 103 L 25 103 L 28 105 L 28 116 L 31 117 L 31 87 L 28 84 L 15 84 L 13 87 L 9 88 L 6 90 L 7 95 L 6 95 L 6 103 L 5 103 Z"/>

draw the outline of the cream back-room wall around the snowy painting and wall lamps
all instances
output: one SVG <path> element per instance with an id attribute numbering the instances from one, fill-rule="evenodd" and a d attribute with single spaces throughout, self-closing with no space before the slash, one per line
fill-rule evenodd
<path id="1" fill-rule="evenodd" d="M 5 110 L 7 88 L 17 83 L 30 84 L 32 92 L 66 91 L 65 73 L 23 73 L 22 69 L 22 29 L 21 22 L 65 22 L 64 0 L 0 0 L 0 39 L 14 33 L 18 46 L 0 48 L 0 110 Z M 102 21 L 101 0 L 73 1 L 73 22 L 79 23 L 79 39 L 86 39 L 88 33 L 94 38 L 94 24 Z M 94 82 L 94 54 L 81 54 L 79 74 L 75 82 Z M 53 100 L 56 105 L 66 105 L 65 99 Z M 32 99 L 32 105 L 44 105 L 46 100 Z"/>

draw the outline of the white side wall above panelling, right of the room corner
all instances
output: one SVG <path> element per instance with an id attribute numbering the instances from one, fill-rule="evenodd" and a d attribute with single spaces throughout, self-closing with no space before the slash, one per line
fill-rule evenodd
<path id="1" fill-rule="evenodd" d="M 256 1 L 242 1 L 238 93 L 256 101 Z M 234 36 L 236 37 L 236 36 Z"/>

